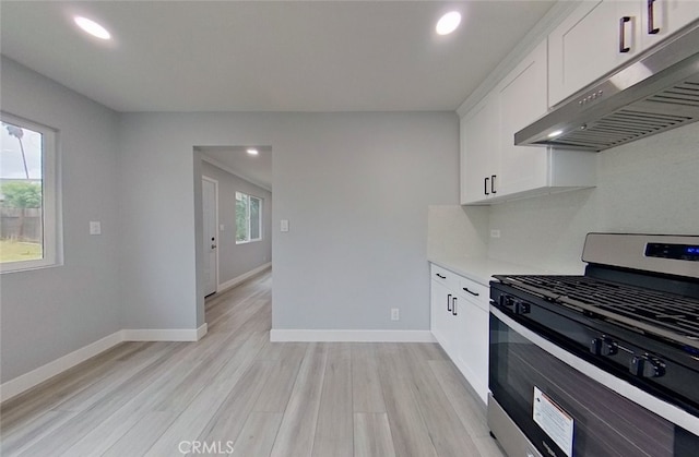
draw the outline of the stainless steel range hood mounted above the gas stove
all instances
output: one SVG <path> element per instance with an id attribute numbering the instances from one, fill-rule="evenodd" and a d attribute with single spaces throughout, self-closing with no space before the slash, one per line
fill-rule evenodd
<path id="1" fill-rule="evenodd" d="M 698 120 L 695 22 L 517 132 L 514 144 L 599 152 Z"/>

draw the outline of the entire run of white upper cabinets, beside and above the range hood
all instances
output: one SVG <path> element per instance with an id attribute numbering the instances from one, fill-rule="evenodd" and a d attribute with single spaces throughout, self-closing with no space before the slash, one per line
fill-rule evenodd
<path id="1" fill-rule="evenodd" d="M 516 146 L 514 133 L 699 20 L 699 0 L 587 0 L 461 119 L 461 204 L 595 185 L 596 156 Z"/>

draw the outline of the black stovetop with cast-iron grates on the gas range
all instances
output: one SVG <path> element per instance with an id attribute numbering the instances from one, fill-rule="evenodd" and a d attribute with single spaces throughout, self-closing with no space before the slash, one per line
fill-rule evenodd
<path id="1" fill-rule="evenodd" d="M 494 277 L 585 315 L 617 322 L 699 349 L 699 299 L 589 276 Z"/>

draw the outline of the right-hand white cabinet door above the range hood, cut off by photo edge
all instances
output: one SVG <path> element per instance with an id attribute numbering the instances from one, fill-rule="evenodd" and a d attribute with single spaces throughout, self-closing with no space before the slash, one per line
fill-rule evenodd
<path id="1" fill-rule="evenodd" d="M 655 45 L 699 19 L 697 0 L 642 0 L 641 43 Z"/>

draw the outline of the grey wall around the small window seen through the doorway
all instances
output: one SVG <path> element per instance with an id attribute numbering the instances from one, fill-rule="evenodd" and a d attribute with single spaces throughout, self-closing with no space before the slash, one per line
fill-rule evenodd
<path id="1" fill-rule="evenodd" d="M 272 261 L 272 193 L 206 161 L 202 175 L 218 182 L 218 284 L 238 278 Z M 236 244 L 236 192 L 261 197 L 262 240 Z"/>

